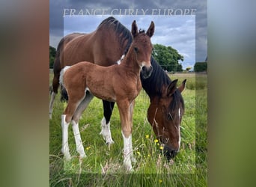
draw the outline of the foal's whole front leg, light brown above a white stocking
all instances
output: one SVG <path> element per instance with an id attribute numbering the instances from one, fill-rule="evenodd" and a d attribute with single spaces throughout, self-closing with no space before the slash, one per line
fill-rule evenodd
<path id="1" fill-rule="evenodd" d="M 117 102 L 121 118 L 122 135 L 124 138 L 124 166 L 127 171 L 132 171 L 130 153 L 132 153 L 132 128 L 129 123 L 129 102 Z"/>

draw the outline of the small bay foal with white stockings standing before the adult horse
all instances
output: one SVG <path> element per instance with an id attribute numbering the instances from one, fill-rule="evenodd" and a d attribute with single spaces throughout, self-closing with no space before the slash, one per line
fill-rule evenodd
<path id="1" fill-rule="evenodd" d="M 67 135 L 70 122 L 73 124 L 76 150 L 81 157 L 85 157 L 79 133 L 79 118 L 88 105 L 86 94 L 92 94 L 100 99 L 117 102 L 124 138 L 124 166 L 127 171 L 132 170 L 131 162 L 135 162 L 132 152 L 132 113 L 135 98 L 141 91 L 140 72 L 142 69 L 152 71 L 150 57 L 153 46 L 150 37 L 153 36 L 154 28 L 154 23 L 151 22 L 146 33 L 138 32 L 136 22 L 132 22 L 133 40 L 121 64 L 103 67 L 82 61 L 71 67 L 64 67 L 61 71 L 60 82 L 69 97 L 67 108 L 61 115 L 64 158 L 70 159 Z"/>

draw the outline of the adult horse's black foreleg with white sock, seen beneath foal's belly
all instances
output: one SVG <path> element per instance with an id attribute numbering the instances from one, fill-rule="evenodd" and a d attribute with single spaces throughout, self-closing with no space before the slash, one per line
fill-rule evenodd
<path id="1" fill-rule="evenodd" d="M 108 102 L 103 100 L 104 108 L 104 117 L 101 120 L 101 132 L 100 135 L 103 135 L 103 139 L 106 140 L 106 144 L 113 144 L 111 131 L 110 131 L 110 117 L 114 108 L 115 102 Z"/>

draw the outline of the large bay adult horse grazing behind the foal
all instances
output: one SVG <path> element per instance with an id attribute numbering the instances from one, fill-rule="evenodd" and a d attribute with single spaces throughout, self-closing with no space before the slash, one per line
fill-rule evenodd
<path id="1" fill-rule="evenodd" d="M 112 47 L 109 47 L 109 43 L 112 44 Z M 58 93 L 60 72 L 64 66 L 73 65 L 79 61 L 90 61 L 102 66 L 116 64 L 116 61 L 127 53 L 127 49 L 129 49 L 131 43 L 132 34 L 130 34 L 130 31 L 112 16 L 104 19 L 97 30 L 90 34 L 76 33 L 64 37 L 58 44 L 53 68 L 54 79 L 52 81 L 53 91 L 49 109 L 50 117 L 52 115 L 53 101 L 55 95 Z M 167 159 L 170 159 L 180 149 L 180 121 L 184 111 L 183 97 L 180 93 L 185 88 L 186 80 L 180 85 L 177 91 L 174 91 L 174 94 L 167 94 L 167 91 L 170 91 L 167 88 L 171 88 L 171 79 L 153 57 L 151 57 L 150 63 L 153 67 L 151 75 L 145 76 L 147 75 L 146 73 L 141 73 L 142 88 L 150 96 L 147 119 L 150 125 L 153 126 L 153 131 L 157 138 L 159 138 L 159 141 L 165 144 L 165 156 Z M 172 87 L 175 84 L 173 82 Z M 85 99 L 88 99 L 88 103 L 92 98 L 93 96 L 88 92 L 85 97 Z M 100 134 L 103 135 L 106 144 L 114 143 L 110 131 L 110 118 L 114 104 L 115 102 L 103 100 L 104 117 L 101 121 L 102 130 Z M 176 120 L 171 120 L 171 117 L 177 117 L 179 114 L 180 120 L 177 120 L 177 118 L 175 118 Z"/>

